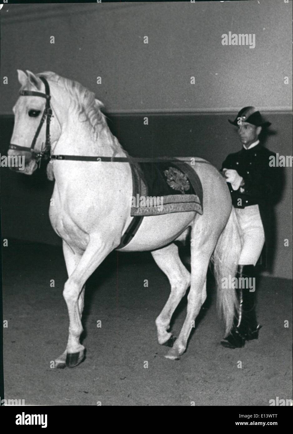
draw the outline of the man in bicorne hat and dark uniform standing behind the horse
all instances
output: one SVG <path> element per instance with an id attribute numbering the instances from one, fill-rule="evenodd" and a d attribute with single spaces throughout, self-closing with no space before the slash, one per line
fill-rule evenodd
<path id="1" fill-rule="evenodd" d="M 255 278 L 264 243 L 266 249 L 270 246 L 273 204 L 280 198 L 280 170 L 269 165 L 269 158 L 276 158 L 276 154 L 260 144 L 258 136 L 270 122 L 264 122 L 257 109 L 244 107 L 234 121 L 229 122 L 238 127 L 242 143 L 241 151 L 228 155 L 221 168 L 242 231 L 238 277 Z M 243 347 L 245 341 L 257 339 L 260 329 L 255 312 L 255 292 L 242 288 L 237 289 L 237 293 L 240 311 L 230 334 L 221 342 L 228 348 Z"/>

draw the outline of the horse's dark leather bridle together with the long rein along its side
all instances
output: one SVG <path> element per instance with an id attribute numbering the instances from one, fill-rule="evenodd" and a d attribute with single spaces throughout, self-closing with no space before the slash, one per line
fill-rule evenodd
<path id="1" fill-rule="evenodd" d="M 51 154 L 50 122 L 52 118 L 52 108 L 50 105 L 50 100 L 51 100 L 50 87 L 45 77 L 40 76 L 39 78 L 42 80 L 42 82 L 45 85 L 46 93 L 36 92 L 33 90 L 21 90 L 19 93 L 20 96 L 39 96 L 40 98 L 46 99 L 45 109 L 43 111 L 39 126 L 34 135 L 32 144 L 30 145 L 30 148 L 28 148 L 26 146 L 14 145 L 13 143 L 10 143 L 9 149 L 30 152 L 33 158 L 37 161 L 37 163 L 39 163 L 42 160 L 42 158 L 44 160 L 51 159 L 51 160 L 70 160 L 70 161 L 98 161 L 98 162 L 105 161 L 111 163 L 160 163 L 160 162 L 175 163 L 178 161 L 190 162 L 190 158 L 179 160 L 178 158 L 169 158 L 169 157 L 138 158 L 138 157 L 130 157 L 130 156 L 129 157 L 103 157 L 103 156 L 99 157 L 99 156 L 88 156 L 88 155 L 50 155 Z M 46 119 L 45 148 L 41 149 L 41 151 L 38 152 L 35 151 L 36 140 L 39 136 L 39 133 L 41 131 L 43 123 L 45 122 L 45 119 Z M 193 160 L 199 163 L 211 164 L 208 161 L 201 161 L 196 158 L 193 158 Z"/>

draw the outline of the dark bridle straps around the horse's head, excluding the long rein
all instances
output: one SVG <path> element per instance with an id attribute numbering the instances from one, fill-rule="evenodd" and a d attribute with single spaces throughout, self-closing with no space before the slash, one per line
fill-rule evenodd
<path id="1" fill-rule="evenodd" d="M 32 154 L 32 157 L 37 162 L 41 161 L 42 158 L 44 158 L 46 160 L 48 158 L 50 158 L 50 152 L 51 152 L 50 122 L 51 122 L 51 118 L 52 118 L 52 109 L 51 109 L 51 105 L 50 105 L 51 95 L 50 95 L 49 83 L 47 82 L 47 80 L 45 79 L 45 77 L 40 76 L 39 78 L 42 80 L 42 82 L 45 85 L 45 92 L 46 93 L 35 92 L 33 90 L 21 90 L 20 91 L 20 96 L 40 96 L 41 98 L 45 98 L 46 99 L 45 109 L 43 111 L 42 118 L 40 120 L 39 126 L 38 126 L 38 128 L 36 130 L 36 133 L 34 135 L 32 144 L 30 145 L 30 148 L 27 148 L 26 146 L 13 145 L 12 143 L 10 143 L 10 146 L 9 146 L 9 149 L 30 152 Z M 41 151 L 35 151 L 36 140 L 37 140 L 37 138 L 39 136 L 39 133 L 41 131 L 43 123 L 45 122 L 45 119 L 46 119 L 46 143 L 45 143 L 45 148 L 41 149 Z"/>

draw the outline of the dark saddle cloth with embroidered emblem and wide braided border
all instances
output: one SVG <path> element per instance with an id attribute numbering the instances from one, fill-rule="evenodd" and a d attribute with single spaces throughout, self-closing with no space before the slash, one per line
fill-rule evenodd
<path id="1" fill-rule="evenodd" d="M 185 162 L 132 163 L 131 216 L 155 216 L 202 210 L 202 184 Z"/>

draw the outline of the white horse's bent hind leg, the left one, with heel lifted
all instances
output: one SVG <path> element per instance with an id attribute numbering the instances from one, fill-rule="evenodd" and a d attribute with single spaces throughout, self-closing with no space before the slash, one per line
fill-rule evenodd
<path id="1" fill-rule="evenodd" d="M 172 346 L 174 338 L 172 333 L 167 332 L 167 330 L 173 312 L 190 285 L 190 273 L 182 264 L 178 254 L 178 247 L 173 243 L 163 247 L 163 249 L 154 250 L 152 255 L 157 265 L 168 277 L 171 285 L 171 293 L 166 305 L 156 319 L 158 341 L 161 345 Z"/>

